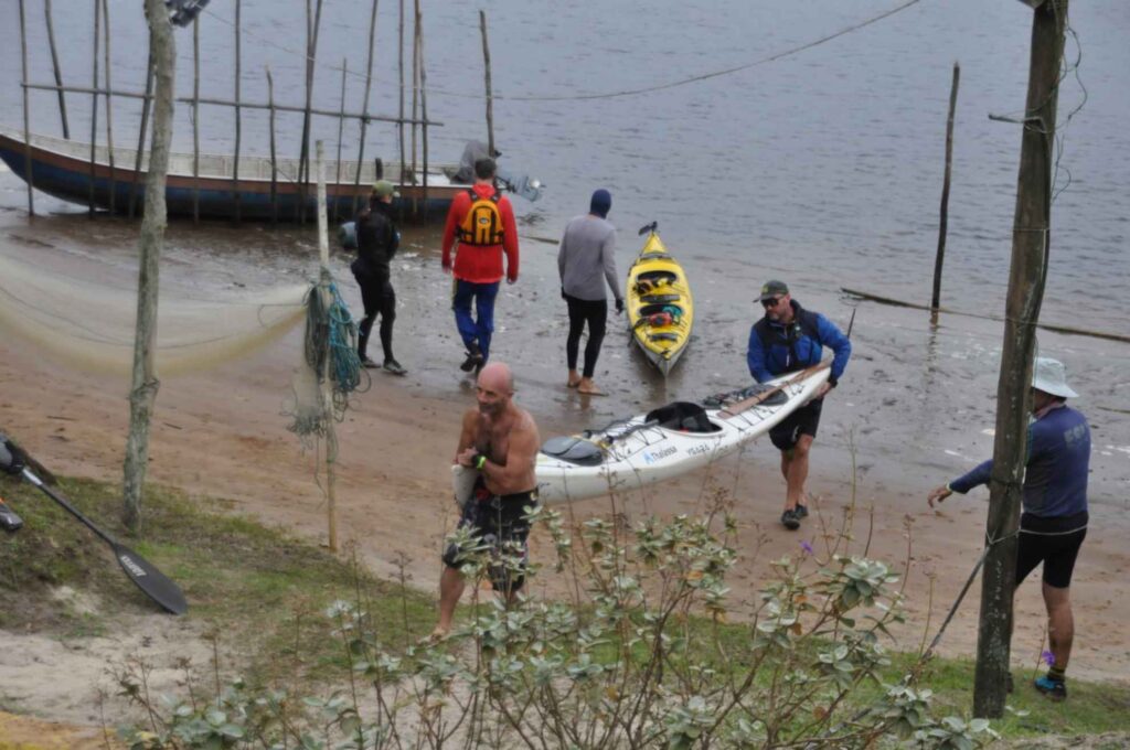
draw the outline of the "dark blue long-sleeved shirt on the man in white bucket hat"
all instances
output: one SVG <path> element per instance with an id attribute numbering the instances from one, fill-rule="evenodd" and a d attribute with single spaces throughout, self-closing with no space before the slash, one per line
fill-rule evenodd
<path id="1" fill-rule="evenodd" d="M 1028 462 L 1024 471 L 1024 512 L 1041 517 L 1069 516 L 1087 509 L 1090 427 L 1070 407 L 1057 407 L 1028 426 Z M 965 494 L 989 483 L 992 459 L 949 489 Z"/>

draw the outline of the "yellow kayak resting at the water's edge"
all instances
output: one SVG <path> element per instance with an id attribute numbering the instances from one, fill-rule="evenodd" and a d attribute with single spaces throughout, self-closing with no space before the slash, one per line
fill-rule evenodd
<path id="1" fill-rule="evenodd" d="M 624 300 L 632 337 L 667 377 L 690 340 L 695 307 L 687 276 L 667 252 L 655 227 L 652 223 L 640 230 L 647 234 L 647 241 L 628 269 Z"/>

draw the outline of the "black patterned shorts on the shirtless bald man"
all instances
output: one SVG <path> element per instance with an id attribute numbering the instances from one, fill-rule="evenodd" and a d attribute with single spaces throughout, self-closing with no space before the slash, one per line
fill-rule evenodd
<path id="1" fill-rule="evenodd" d="M 514 495 L 490 495 L 481 480 L 475 487 L 475 492 L 459 518 L 459 527 L 469 527 L 475 537 L 490 548 L 490 555 L 496 560 L 490 566 L 490 585 L 495 591 L 513 593 L 525 582 L 523 573 L 515 573 L 513 564 L 506 565 L 502 559 L 506 555 L 520 559 L 519 567 L 525 570 L 530 560 L 530 522 L 525 517 L 525 507 L 537 506 L 538 490 Z M 443 552 L 443 564 L 449 568 L 460 569 L 459 547 L 449 544 Z"/>

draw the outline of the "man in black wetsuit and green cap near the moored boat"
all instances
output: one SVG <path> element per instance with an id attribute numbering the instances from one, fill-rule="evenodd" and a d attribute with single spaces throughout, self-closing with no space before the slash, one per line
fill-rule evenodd
<path id="1" fill-rule="evenodd" d="M 405 375 L 405 369 L 392 356 L 392 323 L 397 320 L 397 293 L 392 289 L 389 261 L 400 246 L 400 232 L 392 221 L 392 199 L 400 193 L 391 182 L 381 180 L 373 184 L 368 206 L 357 215 L 357 260 L 349 267 L 360 286 L 365 317 L 359 325 L 357 356 L 365 367 L 379 367 L 368 358 L 368 334 L 376 316 L 381 316 L 381 348 L 384 350 L 384 370 Z"/>

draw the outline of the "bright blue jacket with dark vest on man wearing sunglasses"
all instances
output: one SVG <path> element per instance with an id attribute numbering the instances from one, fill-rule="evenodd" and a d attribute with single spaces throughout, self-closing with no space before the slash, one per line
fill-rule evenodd
<path id="1" fill-rule="evenodd" d="M 828 376 L 828 382 L 835 385 L 847 367 L 851 341 L 824 315 L 802 309 L 796 299 L 790 304 L 793 320 L 788 326 L 768 317 L 764 320 L 771 339 L 767 345 L 762 341 L 757 323 L 749 329 L 749 348 L 746 351 L 749 374 L 758 383 L 764 383 L 777 375 L 818 365 L 824 354 L 823 345 L 835 352 L 832 373 Z M 803 317 L 815 322 L 815 330 L 809 330 L 810 326 L 802 324 Z"/>

